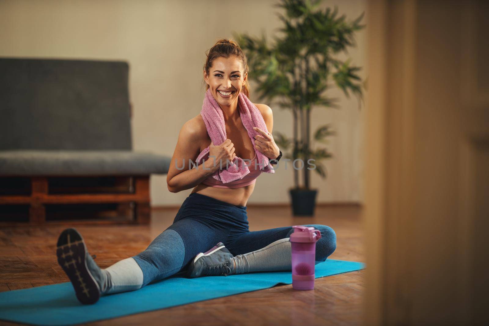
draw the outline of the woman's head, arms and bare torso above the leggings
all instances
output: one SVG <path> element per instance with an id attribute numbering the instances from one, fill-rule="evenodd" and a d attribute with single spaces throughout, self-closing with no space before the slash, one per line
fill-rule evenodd
<path id="1" fill-rule="evenodd" d="M 192 193 L 213 197 L 233 205 L 245 206 L 253 193 L 255 180 L 259 175 L 259 170 L 256 171 L 253 164 L 249 166 L 252 174 L 245 176 L 243 180 L 238 180 L 236 184 L 219 182 L 216 184 L 216 180 L 211 176 L 216 171 L 215 167 L 205 166 L 201 169 L 190 169 L 187 162 L 189 160 L 195 162 L 198 154 L 207 148 L 210 150 L 209 155 L 216 156 L 216 162 L 219 162 L 220 159 L 225 162 L 226 158 L 233 161 L 236 156 L 253 160 L 257 150 L 269 159 L 276 158 L 280 150 L 271 136 L 272 110 L 265 104 L 252 104 L 253 108 L 260 112 L 268 130 L 268 133 L 261 130 L 265 134 L 257 136 L 254 139 L 255 146 L 253 146 L 241 120 L 238 104 L 240 96 L 249 98 L 250 94 L 248 61 L 241 47 L 234 41 L 222 39 L 214 44 L 207 52 L 202 73 L 206 93 L 210 92 L 224 118 L 228 143 L 216 146 L 211 142 L 201 114 L 187 121 L 180 130 L 172 157 L 172 162 L 183 162 L 183 167 L 180 168 L 182 164 L 179 163 L 177 169 L 174 164 L 171 164 L 167 174 L 168 189 L 171 192 L 179 192 L 193 188 Z M 207 160 L 206 163 L 211 162 Z"/>

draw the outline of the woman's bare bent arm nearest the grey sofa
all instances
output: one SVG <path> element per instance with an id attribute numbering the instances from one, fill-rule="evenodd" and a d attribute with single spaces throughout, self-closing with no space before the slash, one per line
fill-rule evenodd
<path id="1" fill-rule="evenodd" d="M 194 120 L 187 121 L 178 134 L 177 146 L 166 177 L 170 192 L 178 193 L 194 188 L 207 176 L 219 169 L 219 165 L 215 165 L 212 159 L 208 159 L 205 163 L 189 170 L 189 160 L 197 164 L 196 159 L 200 154 L 201 139 L 202 130 L 198 123 Z"/>

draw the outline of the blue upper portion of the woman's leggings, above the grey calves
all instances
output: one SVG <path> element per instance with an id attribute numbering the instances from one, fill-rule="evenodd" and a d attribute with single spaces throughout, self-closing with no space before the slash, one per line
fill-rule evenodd
<path id="1" fill-rule="evenodd" d="M 316 263 L 325 261 L 336 249 L 336 235 L 326 225 L 308 226 L 321 231 L 321 239 L 316 242 Z M 292 232 L 290 226 L 250 232 L 246 206 L 192 193 L 183 201 L 173 224 L 133 259 L 143 271 L 144 286 L 187 269 L 196 255 L 218 242 L 236 256 L 289 238 Z"/>

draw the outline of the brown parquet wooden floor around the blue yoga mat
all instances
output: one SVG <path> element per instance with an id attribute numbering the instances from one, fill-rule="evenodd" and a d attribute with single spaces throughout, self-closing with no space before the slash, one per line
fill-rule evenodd
<path id="1" fill-rule="evenodd" d="M 156 209 L 150 226 L 76 226 L 95 261 L 105 268 L 144 250 L 173 221 L 178 209 Z M 248 206 L 250 230 L 325 224 L 336 231 L 331 259 L 364 261 L 361 208 L 317 207 L 315 217 L 291 217 L 286 207 Z M 68 282 L 55 245 L 67 225 L 0 228 L 0 292 Z M 317 279 L 312 291 L 279 285 L 265 290 L 111 319 L 90 325 L 358 325 L 363 271 Z M 0 321 L 0 324 L 2 322 Z M 16 325 L 3 323 L 2 325 Z"/>

